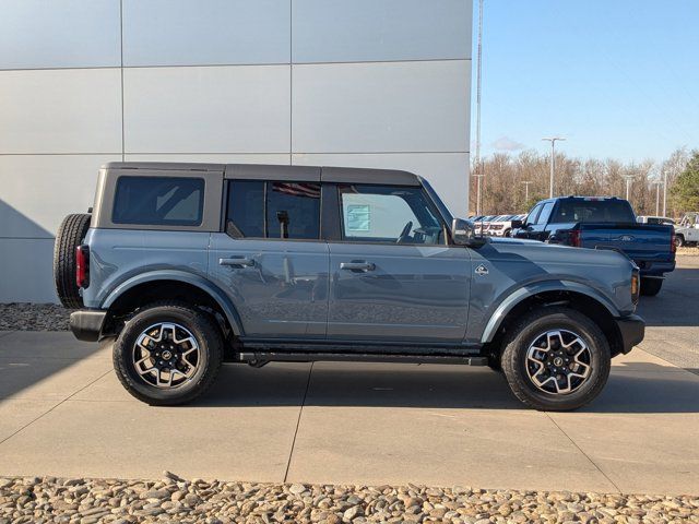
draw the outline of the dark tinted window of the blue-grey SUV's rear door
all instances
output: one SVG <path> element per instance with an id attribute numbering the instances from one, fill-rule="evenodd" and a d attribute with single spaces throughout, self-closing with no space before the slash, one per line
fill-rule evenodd
<path id="1" fill-rule="evenodd" d="M 320 184 L 232 180 L 226 233 L 239 238 L 320 237 Z"/>

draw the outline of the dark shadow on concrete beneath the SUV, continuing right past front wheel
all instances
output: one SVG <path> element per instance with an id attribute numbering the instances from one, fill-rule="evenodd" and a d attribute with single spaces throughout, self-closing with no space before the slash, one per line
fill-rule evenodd
<path id="1" fill-rule="evenodd" d="M 393 365 L 225 366 L 194 405 L 526 409 L 501 373 L 487 369 Z M 308 392 L 305 395 L 306 384 Z M 616 368 L 587 413 L 699 413 L 699 380 L 654 364 Z"/>

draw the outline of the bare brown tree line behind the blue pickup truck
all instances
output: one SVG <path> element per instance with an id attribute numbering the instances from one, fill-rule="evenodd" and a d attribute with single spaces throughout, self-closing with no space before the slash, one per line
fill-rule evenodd
<path id="1" fill-rule="evenodd" d="M 482 158 L 481 214 L 526 213 L 537 201 L 548 198 L 550 155 L 535 151 L 519 154 L 495 153 Z M 476 212 L 476 166 L 471 166 L 470 214 Z M 637 215 L 663 213 L 663 180 L 667 179 L 670 217 L 699 211 L 699 151 L 678 148 L 662 162 L 640 163 L 616 159 L 576 158 L 556 153 L 554 195 L 626 198 Z M 525 184 L 524 182 L 530 182 Z M 526 198 L 529 186 L 529 198 Z M 660 196 L 660 198 L 659 198 Z M 656 209 L 656 202 L 660 202 Z"/>

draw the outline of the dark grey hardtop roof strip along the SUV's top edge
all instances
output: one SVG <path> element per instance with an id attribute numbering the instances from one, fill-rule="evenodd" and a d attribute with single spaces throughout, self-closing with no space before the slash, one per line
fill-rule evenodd
<path id="1" fill-rule="evenodd" d="M 285 166 L 265 164 L 197 164 L 179 162 L 109 162 L 103 169 L 156 171 L 212 171 L 224 178 L 248 180 L 293 180 L 304 182 L 388 183 L 420 186 L 420 177 L 399 169 L 358 167 Z"/>

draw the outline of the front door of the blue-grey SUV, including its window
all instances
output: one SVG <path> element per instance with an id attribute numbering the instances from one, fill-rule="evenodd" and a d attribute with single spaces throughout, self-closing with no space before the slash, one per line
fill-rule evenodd
<path id="1" fill-rule="evenodd" d="M 469 251 L 447 245 L 423 188 L 340 184 L 337 206 L 328 338 L 463 341 Z"/>

